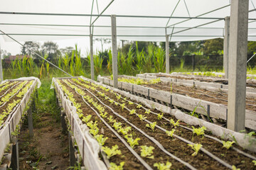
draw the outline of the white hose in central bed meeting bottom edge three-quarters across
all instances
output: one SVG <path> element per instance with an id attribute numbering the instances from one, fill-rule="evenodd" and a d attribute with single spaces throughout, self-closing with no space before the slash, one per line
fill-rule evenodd
<path id="1" fill-rule="evenodd" d="M 71 82 L 72 83 L 72 82 Z M 181 164 L 184 164 L 185 166 L 187 166 L 189 169 L 193 169 L 196 170 L 195 167 L 193 167 L 191 164 L 188 164 L 187 162 L 184 162 L 182 159 L 176 157 L 174 154 L 171 154 L 170 152 L 168 152 L 166 149 L 164 149 L 164 147 L 156 140 L 154 139 L 154 137 L 150 137 L 149 135 L 146 134 L 146 132 L 144 132 L 143 130 L 137 128 L 136 125 L 130 123 L 126 118 L 124 118 L 122 115 L 119 115 L 118 113 L 116 113 L 110 106 L 107 106 L 105 103 L 103 103 L 99 98 L 97 98 L 97 96 L 95 96 L 95 94 L 92 94 L 92 92 L 90 92 L 88 89 L 82 88 L 81 86 L 75 84 L 75 86 L 80 87 L 80 89 L 83 89 L 85 91 L 87 91 L 88 93 L 90 93 L 92 96 L 94 96 L 98 101 L 100 101 L 100 103 L 102 103 L 102 105 L 106 106 L 107 108 L 110 109 L 110 111 L 112 111 L 112 113 L 114 113 L 114 115 L 117 115 L 117 117 L 121 118 L 122 120 L 124 120 L 126 123 L 128 123 L 129 125 L 131 125 L 134 129 L 138 130 L 139 132 L 141 132 L 145 137 L 147 137 L 149 140 L 151 140 L 151 142 L 153 142 L 157 147 L 159 147 L 159 149 L 161 149 L 164 153 L 166 153 L 167 155 L 169 155 L 170 157 L 172 157 L 173 159 L 175 159 L 178 162 L 181 162 Z"/>

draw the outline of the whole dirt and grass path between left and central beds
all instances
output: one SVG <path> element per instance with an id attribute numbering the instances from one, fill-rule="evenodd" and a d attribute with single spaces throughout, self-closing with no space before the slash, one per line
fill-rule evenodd
<path id="1" fill-rule="evenodd" d="M 34 137 L 28 136 L 26 120 L 18 135 L 20 169 L 68 169 L 68 133 L 61 132 L 60 110 L 50 81 L 43 82 L 38 96 L 33 113 Z"/>

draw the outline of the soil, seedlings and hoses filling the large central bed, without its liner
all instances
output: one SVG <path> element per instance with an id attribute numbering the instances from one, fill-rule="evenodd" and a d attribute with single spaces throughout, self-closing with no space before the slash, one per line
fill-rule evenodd
<path id="1" fill-rule="evenodd" d="M 86 79 L 58 84 L 107 154 L 110 169 L 255 169 L 255 154 Z"/>

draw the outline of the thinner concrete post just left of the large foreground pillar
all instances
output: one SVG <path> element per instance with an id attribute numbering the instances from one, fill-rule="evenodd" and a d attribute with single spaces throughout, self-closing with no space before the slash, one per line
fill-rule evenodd
<path id="1" fill-rule="evenodd" d="M 225 78 L 228 79 L 228 48 L 230 39 L 230 17 L 225 17 L 225 33 L 224 33 L 224 47 L 223 47 L 223 69 Z"/>

